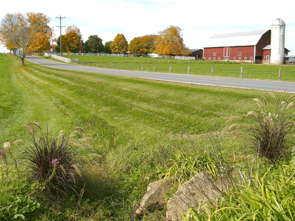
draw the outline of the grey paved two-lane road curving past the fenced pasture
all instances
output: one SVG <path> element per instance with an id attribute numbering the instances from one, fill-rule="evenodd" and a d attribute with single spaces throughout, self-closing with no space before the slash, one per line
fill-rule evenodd
<path id="1" fill-rule="evenodd" d="M 272 91 L 284 91 L 295 93 L 295 83 L 292 82 L 277 82 L 266 80 L 248 80 L 248 79 L 236 79 L 236 78 L 224 78 L 224 77 L 203 77 L 196 75 L 176 75 L 176 74 L 164 74 L 153 72 L 137 72 L 137 71 L 124 71 L 124 70 L 111 70 L 96 67 L 83 67 L 77 65 L 64 64 L 59 62 L 49 61 L 40 57 L 27 56 L 27 60 L 36 64 L 45 65 L 48 67 L 55 67 L 61 69 L 96 72 L 112 75 L 123 75 L 130 77 L 141 77 L 155 80 L 165 80 L 173 82 L 200 84 L 200 85 L 214 85 L 222 87 L 233 88 L 249 88 L 258 90 L 272 90 Z"/>

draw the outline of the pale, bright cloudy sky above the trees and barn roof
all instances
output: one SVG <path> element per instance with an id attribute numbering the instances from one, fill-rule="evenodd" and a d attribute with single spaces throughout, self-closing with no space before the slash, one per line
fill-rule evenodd
<path id="1" fill-rule="evenodd" d="M 184 43 L 190 49 L 202 48 L 214 34 L 271 29 L 281 18 L 286 23 L 285 47 L 295 55 L 294 1 L 196 1 L 196 0 L 84 0 L 40 1 L 14 0 L 1 3 L 0 18 L 6 13 L 41 12 L 50 17 L 55 37 L 62 26 L 76 25 L 84 42 L 98 35 L 103 43 L 118 33 L 128 42 L 134 37 L 157 32 L 177 25 Z M 62 34 L 65 32 L 62 28 Z M 0 52 L 9 52 L 0 45 Z"/>

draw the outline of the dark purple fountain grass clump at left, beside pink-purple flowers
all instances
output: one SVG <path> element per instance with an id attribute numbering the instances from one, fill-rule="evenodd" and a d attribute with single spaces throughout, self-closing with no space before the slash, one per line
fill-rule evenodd
<path id="1" fill-rule="evenodd" d="M 50 195 L 68 197 L 74 193 L 76 179 L 81 177 L 83 161 L 91 163 L 72 145 L 94 151 L 88 141 L 92 138 L 82 138 L 86 133 L 78 127 L 68 136 L 65 131 L 60 131 L 56 138 L 48 134 L 48 129 L 47 133 L 43 133 L 36 122 L 22 127 L 28 129 L 26 134 L 30 135 L 30 139 L 29 144 L 17 157 L 17 161 L 22 163 L 30 179 L 42 183 L 43 189 Z M 14 143 L 17 142 L 23 141 L 17 140 Z M 22 161 L 19 161 L 19 158 Z"/>

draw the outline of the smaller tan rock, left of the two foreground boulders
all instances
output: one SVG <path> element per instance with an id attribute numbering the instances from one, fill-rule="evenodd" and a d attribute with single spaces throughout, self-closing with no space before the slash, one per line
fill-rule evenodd
<path id="1" fill-rule="evenodd" d="M 167 193 L 174 188 L 176 188 L 176 185 L 172 178 L 160 179 L 150 183 L 135 214 L 140 215 L 143 213 L 142 210 L 153 212 L 163 209 L 166 204 Z"/>

